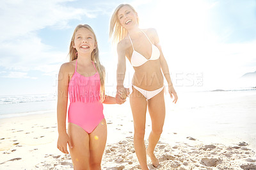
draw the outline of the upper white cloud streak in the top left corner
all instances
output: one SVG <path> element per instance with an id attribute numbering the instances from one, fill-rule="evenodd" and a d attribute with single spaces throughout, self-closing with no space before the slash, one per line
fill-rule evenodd
<path id="1" fill-rule="evenodd" d="M 62 29 L 67 27 L 68 20 L 78 19 L 84 15 L 95 17 L 95 10 L 65 6 L 68 1 L 1 1 L 0 40 L 10 40 L 24 36 L 31 31 L 54 26 Z M 98 11 L 99 12 L 99 11 Z"/>

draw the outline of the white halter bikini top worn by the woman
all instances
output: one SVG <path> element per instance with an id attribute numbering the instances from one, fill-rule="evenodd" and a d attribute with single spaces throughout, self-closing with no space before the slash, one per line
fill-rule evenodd
<path id="1" fill-rule="evenodd" d="M 144 33 L 144 32 L 142 31 L 142 33 Z M 148 38 L 148 36 L 145 33 L 144 33 L 144 35 Z M 130 38 L 130 41 L 132 43 L 132 40 L 131 40 L 130 36 L 129 36 L 129 38 Z M 148 38 L 148 41 L 150 42 L 149 38 Z M 159 57 L 160 57 L 159 49 L 156 47 L 156 45 L 152 44 L 152 42 L 150 42 L 150 43 L 151 43 L 151 46 L 152 46 L 152 50 L 151 50 L 151 56 L 150 56 L 149 59 L 145 58 L 139 52 L 134 50 L 134 47 L 133 47 L 133 44 L 132 44 L 132 49 L 133 49 L 132 57 L 131 57 L 131 64 L 132 64 L 132 66 L 141 66 L 144 63 L 146 63 L 148 60 L 159 59 Z"/>

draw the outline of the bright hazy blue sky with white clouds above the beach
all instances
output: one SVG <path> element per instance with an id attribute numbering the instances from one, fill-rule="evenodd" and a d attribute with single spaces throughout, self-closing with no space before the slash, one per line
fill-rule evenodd
<path id="1" fill-rule="evenodd" d="M 95 31 L 112 93 L 117 55 L 109 20 L 121 3 L 134 6 L 141 29 L 156 29 L 177 89 L 231 88 L 256 71 L 255 0 L 9 0 L 0 2 L 0 95 L 56 93 L 78 24 Z M 129 61 L 126 73 L 129 86 Z"/>

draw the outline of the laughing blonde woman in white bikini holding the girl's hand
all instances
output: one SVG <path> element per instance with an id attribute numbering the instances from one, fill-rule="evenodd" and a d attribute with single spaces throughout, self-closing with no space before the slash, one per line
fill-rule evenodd
<path id="1" fill-rule="evenodd" d="M 159 161 L 154 149 L 163 130 L 165 118 L 163 74 L 168 82 L 168 91 L 173 102 L 177 93 L 173 88 L 170 73 L 155 29 L 140 29 L 138 13 L 129 4 L 120 4 L 112 15 L 109 37 L 118 42 L 117 91 L 124 89 L 125 56 L 134 68 L 132 86 L 129 90 L 134 120 L 134 148 L 141 169 L 148 169 L 147 155 L 154 167 Z M 163 74 L 162 74 L 162 72 Z M 152 131 L 148 137 L 148 148 L 144 143 L 146 112 L 152 120 Z"/>

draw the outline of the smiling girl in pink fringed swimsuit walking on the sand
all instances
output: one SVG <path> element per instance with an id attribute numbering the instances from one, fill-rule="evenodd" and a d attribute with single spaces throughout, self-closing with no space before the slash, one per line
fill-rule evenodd
<path id="1" fill-rule="evenodd" d="M 68 153 L 68 144 L 74 169 L 100 169 L 107 139 L 102 103 L 116 104 L 116 98 L 104 93 L 105 69 L 100 64 L 96 36 L 90 26 L 76 27 L 69 56 L 70 62 L 61 65 L 58 77 L 57 148 Z M 118 104 L 124 102 L 118 100 Z"/>

